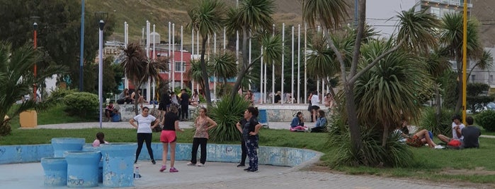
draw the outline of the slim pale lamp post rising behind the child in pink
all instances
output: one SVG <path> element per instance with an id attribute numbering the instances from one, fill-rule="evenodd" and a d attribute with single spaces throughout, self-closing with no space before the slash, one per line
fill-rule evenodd
<path id="1" fill-rule="evenodd" d="M 101 122 L 103 121 L 103 26 L 105 23 L 103 20 L 100 20 L 100 30 L 99 30 L 99 40 L 98 40 L 98 99 L 100 102 L 100 128 Z"/>

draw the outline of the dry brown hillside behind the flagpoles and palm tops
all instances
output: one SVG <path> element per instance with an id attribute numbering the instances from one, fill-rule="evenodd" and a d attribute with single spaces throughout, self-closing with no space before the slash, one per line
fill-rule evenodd
<path id="1" fill-rule="evenodd" d="M 142 37 L 142 28 L 146 28 L 146 20 L 156 25 L 156 31 L 162 40 L 168 35 L 169 22 L 175 23 L 176 32 L 181 25 L 186 27 L 190 21 L 187 11 L 198 0 L 106 0 L 86 1 L 86 11 L 108 13 L 108 19 L 115 21 L 115 31 L 109 40 L 123 41 L 124 22 L 129 25 L 130 42 L 138 42 Z M 228 6 L 235 6 L 235 1 L 222 0 Z M 301 23 L 301 4 L 298 0 L 275 0 L 276 10 L 273 18 L 277 23 Z M 184 43 L 190 44 L 190 31 L 184 30 Z M 178 34 L 180 35 L 180 33 Z"/>

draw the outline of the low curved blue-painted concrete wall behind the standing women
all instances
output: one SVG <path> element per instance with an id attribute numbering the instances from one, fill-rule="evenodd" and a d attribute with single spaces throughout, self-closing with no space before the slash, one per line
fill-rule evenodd
<path id="1" fill-rule="evenodd" d="M 91 145 L 91 144 L 86 144 Z M 177 144 L 176 160 L 190 160 L 191 144 Z M 152 143 L 154 158 L 162 159 L 161 143 Z M 199 159 L 198 152 L 198 159 Z M 275 166 L 297 166 L 312 159 L 319 159 L 321 153 L 290 147 L 260 147 L 258 150 L 259 164 Z M 0 164 L 16 164 L 40 161 L 42 157 L 53 157 L 52 145 L 9 145 L 0 146 Z M 207 161 L 239 162 L 241 159 L 240 145 L 207 145 Z M 150 160 L 146 147 L 142 148 L 140 160 Z M 199 161 L 199 160 L 198 160 Z"/>

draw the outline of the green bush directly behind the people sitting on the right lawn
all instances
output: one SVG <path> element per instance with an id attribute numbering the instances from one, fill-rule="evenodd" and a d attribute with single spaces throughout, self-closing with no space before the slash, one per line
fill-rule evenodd
<path id="1" fill-rule="evenodd" d="M 437 125 L 435 113 L 435 107 L 426 107 L 423 109 L 423 114 L 419 119 L 418 130 L 430 130 L 433 135 L 452 135 L 451 127 L 454 112 L 448 109 L 442 109 L 440 113 L 440 125 Z"/>

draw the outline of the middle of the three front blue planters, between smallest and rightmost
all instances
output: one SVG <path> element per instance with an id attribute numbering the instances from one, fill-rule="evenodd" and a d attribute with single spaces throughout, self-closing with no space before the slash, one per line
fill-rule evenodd
<path id="1" fill-rule="evenodd" d="M 67 186 L 86 188 L 98 186 L 98 164 L 100 151 L 64 152 L 67 160 Z"/>

